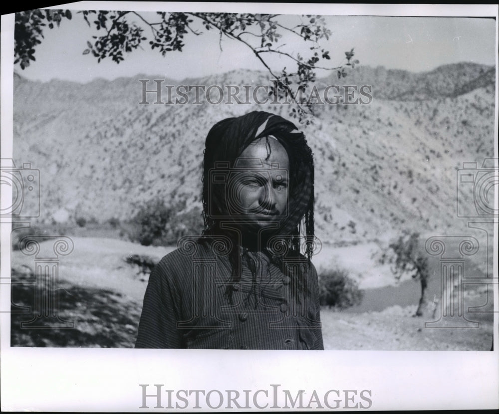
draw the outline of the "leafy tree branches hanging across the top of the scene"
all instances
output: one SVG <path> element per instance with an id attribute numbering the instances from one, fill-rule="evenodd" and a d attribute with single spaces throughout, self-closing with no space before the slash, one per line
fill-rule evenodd
<path id="1" fill-rule="evenodd" d="M 92 54 L 98 62 L 111 58 L 119 63 L 125 59 L 126 53 L 142 48 L 144 43 L 148 43 L 151 49 L 158 50 L 163 56 L 168 52 L 181 52 L 187 36 L 202 34 L 202 28 L 219 33 L 220 47 L 223 38 L 239 41 L 249 48 L 275 81 L 277 90 L 270 88 L 269 94 L 287 95 L 295 100 L 298 110 L 290 115 L 298 116 L 300 121 L 307 113 L 313 113 L 313 103 L 297 92 L 307 89 L 310 83 L 315 81 L 317 69 L 336 71 L 338 78 L 341 78 L 347 74 L 345 66 L 353 68 L 359 63 L 358 60 L 352 60 L 352 48 L 345 52 L 346 61 L 343 64 L 327 64 L 331 56 L 329 50 L 324 49 L 320 43 L 324 39 L 329 40 L 331 31 L 320 15 L 303 15 L 297 24 L 291 25 L 282 23 L 279 14 L 158 11 L 154 21 L 149 15 L 136 11 L 82 10 L 77 11 L 77 14 L 83 17 L 89 27 L 94 27 L 97 31 L 97 35 L 87 41 L 88 48 L 83 50 L 83 54 Z M 72 18 L 70 10 L 37 9 L 16 13 L 14 63 L 19 63 L 21 69 L 29 66 L 30 61 L 35 60 L 35 47 L 43 39 L 43 28 L 53 28 L 54 23 L 59 26 L 64 18 Z M 284 34 L 307 42 L 309 55 L 295 54 L 292 46 L 282 42 Z M 292 42 L 295 44 L 295 40 Z M 294 69 L 288 70 L 284 67 L 280 72 L 276 72 L 268 61 L 271 55 L 282 56 Z M 297 85 L 294 92 L 291 88 L 293 82 Z"/>

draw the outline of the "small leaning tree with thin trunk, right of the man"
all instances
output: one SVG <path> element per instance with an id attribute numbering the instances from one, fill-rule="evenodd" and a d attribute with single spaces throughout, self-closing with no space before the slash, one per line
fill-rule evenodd
<path id="1" fill-rule="evenodd" d="M 427 288 L 430 272 L 428 258 L 423 252 L 419 233 L 405 230 L 403 235 L 389 247 L 395 253 L 395 258 L 390 261 L 394 264 L 392 271 L 396 279 L 400 280 L 402 275 L 409 273 L 412 274 L 414 280 L 419 280 L 421 283 L 421 297 L 414 316 L 423 316 L 429 305 Z"/>

